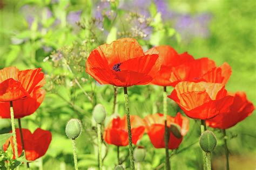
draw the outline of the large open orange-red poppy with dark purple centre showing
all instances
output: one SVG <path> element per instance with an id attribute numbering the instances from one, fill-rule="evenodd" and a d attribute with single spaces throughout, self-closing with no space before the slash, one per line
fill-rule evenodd
<path id="1" fill-rule="evenodd" d="M 129 87 L 152 81 L 160 68 L 158 52 L 143 52 L 135 39 L 122 38 L 94 49 L 86 61 L 86 72 L 100 84 Z"/>

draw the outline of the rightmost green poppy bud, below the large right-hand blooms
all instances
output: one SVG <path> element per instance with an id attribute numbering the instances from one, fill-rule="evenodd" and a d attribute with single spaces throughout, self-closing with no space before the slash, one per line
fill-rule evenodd
<path id="1" fill-rule="evenodd" d="M 217 139 L 212 131 L 206 130 L 203 134 L 201 134 L 199 144 L 203 151 L 211 152 L 214 150 L 217 144 Z"/>

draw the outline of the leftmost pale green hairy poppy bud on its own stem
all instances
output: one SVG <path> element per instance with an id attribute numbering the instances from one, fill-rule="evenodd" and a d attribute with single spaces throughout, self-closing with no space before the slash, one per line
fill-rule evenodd
<path id="1" fill-rule="evenodd" d="M 82 132 L 82 123 L 79 119 L 70 119 L 66 124 L 66 136 L 70 139 L 76 139 Z"/>

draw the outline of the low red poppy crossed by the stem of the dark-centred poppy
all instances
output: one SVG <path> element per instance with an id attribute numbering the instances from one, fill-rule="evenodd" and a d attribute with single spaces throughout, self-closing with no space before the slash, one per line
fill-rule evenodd
<path id="1" fill-rule="evenodd" d="M 137 144 L 137 141 L 142 138 L 145 125 L 142 118 L 139 116 L 131 115 L 131 132 L 132 132 L 132 143 Z M 120 117 L 114 118 L 110 124 L 106 127 L 103 138 L 108 144 L 116 146 L 127 146 L 128 145 L 128 130 L 126 116 L 122 119 Z"/>

